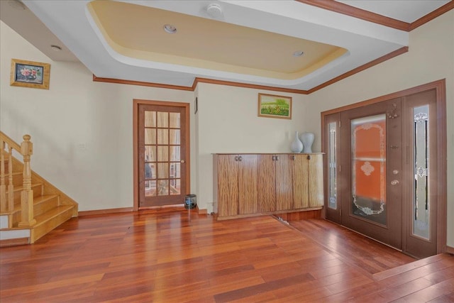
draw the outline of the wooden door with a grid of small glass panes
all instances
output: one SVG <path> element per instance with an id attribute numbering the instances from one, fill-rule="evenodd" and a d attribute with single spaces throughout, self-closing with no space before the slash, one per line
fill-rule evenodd
<path id="1" fill-rule="evenodd" d="M 143 189 L 140 206 L 184 203 L 184 109 L 140 106 L 143 124 Z M 139 139 L 140 141 L 140 139 Z M 142 183 L 140 183 L 142 184 Z"/>

